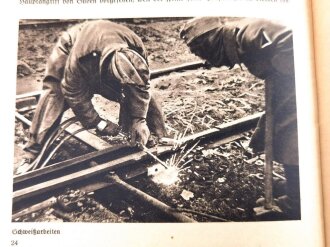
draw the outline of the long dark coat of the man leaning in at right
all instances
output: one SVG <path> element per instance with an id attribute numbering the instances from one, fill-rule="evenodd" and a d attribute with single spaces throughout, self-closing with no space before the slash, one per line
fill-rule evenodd
<path id="1" fill-rule="evenodd" d="M 279 23 L 245 19 L 237 24 L 240 62 L 255 76 L 272 84 L 274 157 L 299 163 L 292 31 Z M 269 97 L 269 96 L 268 96 Z"/>

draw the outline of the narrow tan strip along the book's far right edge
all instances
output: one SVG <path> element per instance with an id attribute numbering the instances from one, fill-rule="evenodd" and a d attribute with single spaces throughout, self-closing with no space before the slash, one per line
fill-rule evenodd
<path id="1" fill-rule="evenodd" d="M 314 20 L 314 43 L 315 43 L 315 70 L 317 77 L 317 95 L 319 103 L 319 125 L 320 125 L 320 143 L 321 143 L 321 162 L 322 162 L 322 181 L 323 181 L 323 196 L 324 196 L 324 214 L 326 226 L 326 239 L 329 245 L 330 231 L 329 231 L 329 208 L 330 208 L 330 195 L 329 195 L 329 180 L 330 171 L 328 163 L 329 157 L 329 69 L 327 66 L 329 51 L 327 44 L 330 39 L 330 32 L 327 28 L 330 23 L 330 18 L 325 10 L 329 9 L 330 5 L 327 1 L 314 1 L 313 2 L 313 20 Z"/>

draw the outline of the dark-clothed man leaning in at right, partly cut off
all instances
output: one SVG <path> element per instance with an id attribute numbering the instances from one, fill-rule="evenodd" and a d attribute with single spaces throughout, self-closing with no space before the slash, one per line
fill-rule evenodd
<path id="1" fill-rule="evenodd" d="M 213 66 L 244 64 L 250 73 L 271 85 L 266 102 L 272 117 L 272 147 L 274 160 L 283 164 L 286 193 L 275 199 L 290 218 L 300 218 L 298 136 L 295 97 L 292 31 L 264 19 L 243 19 L 222 24 L 219 18 L 203 17 L 188 21 L 181 38 L 190 50 Z M 268 97 L 268 99 L 267 99 Z M 268 118 L 269 119 L 269 118 Z M 264 148 L 264 118 L 250 145 L 258 152 Z M 267 140 L 266 140 L 267 141 Z"/>

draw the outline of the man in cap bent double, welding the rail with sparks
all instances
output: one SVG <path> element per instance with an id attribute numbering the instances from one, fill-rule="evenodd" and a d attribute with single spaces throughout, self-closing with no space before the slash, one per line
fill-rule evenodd
<path id="1" fill-rule="evenodd" d="M 123 129 L 131 133 L 132 143 L 143 145 L 152 139 L 150 131 L 165 136 L 164 117 L 151 96 L 149 79 L 146 49 L 127 27 L 96 20 L 70 28 L 49 57 L 21 166 L 33 162 L 68 108 L 83 127 L 103 135 L 115 136 Z M 120 127 L 99 116 L 91 102 L 94 94 L 120 103 Z"/>

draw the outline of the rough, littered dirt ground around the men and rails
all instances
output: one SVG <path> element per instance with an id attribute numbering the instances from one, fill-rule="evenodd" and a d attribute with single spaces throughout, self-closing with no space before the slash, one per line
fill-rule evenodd
<path id="1" fill-rule="evenodd" d="M 127 25 L 142 38 L 149 52 L 151 69 L 159 69 L 198 60 L 179 38 L 180 28 L 185 21 L 181 18 L 119 22 Z M 224 18 L 223 21 L 230 19 Z M 17 58 L 23 65 L 18 66 L 18 94 L 31 88 L 40 89 L 48 55 L 59 34 L 68 26 L 63 24 L 47 29 L 35 27 L 19 30 Z M 186 135 L 196 133 L 264 110 L 264 84 L 244 67 L 174 72 L 152 80 L 152 87 L 162 102 L 167 130 L 172 136 L 183 132 L 186 132 Z M 118 111 L 118 106 L 98 96 L 94 101 L 101 115 L 117 119 L 118 112 L 114 111 Z M 196 146 L 181 161 L 181 164 L 184 164 L 190 160 L 185 169 L 180 171 L 179 180 L 170 186 L 157 184 L 150 177 L 140 178 L 132 183 L 175 208 L 233 221 L 254 220 L 255 201 L 263 195 L 263 157 L 251 159 L 249 156 L 247 145 L 250 134 L 247 133 L 239 141 L 221 146 Z M 26 129 L 16 122 L 17 156 L 26 141 Z M 15 158 L 18 162 L 18 157 Z M 275 166 L 275 171 L 283 174 L 280 165 Z M 110 217 L 109 212 L 107 216 L 95 218 L 83 217 L 78 212 L 71 215 L 74 221 L 106 222 L 109 217 L 115 222 L 131 222 L 134 221 L 133 212 L 138 211 L 134 206 L 127 206 L 125 203 L 122 206 L 117 205 L 116 209 L 109 201 L 97 203 L 97 206 L 90 206 L 86 201 L 84 203 L 81 204 L 81 207 L 85 208 L 84 212 L 87 212 L 87 208 L 89 210 L 94 207 L 94 211 L 88 211 L 89 216 L 108 208 L 119 213 L 119 218 Z M 20 220 L 58 219 L 52 214 L 53 211 L 49 210 L 39 213 L 39 216 L 36 213 L 32 218 L 30 216 Z M 52 216 L 49 218 L 45 215 Z M 198 213 L 192 213 L 192 217 L 198 221 L 217 221 L 214 217 L 201 216 Z"/>

